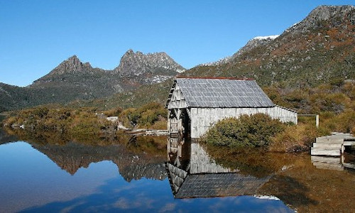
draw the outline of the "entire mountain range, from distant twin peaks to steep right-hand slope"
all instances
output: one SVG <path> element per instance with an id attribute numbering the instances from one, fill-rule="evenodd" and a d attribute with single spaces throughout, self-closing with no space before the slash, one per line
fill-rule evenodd
<path id="1" fill-rule="evenodd" d="M 114 70 L 92 68 L 73 56 L 29 87 L 0 84 L 0 111 L 100 97 L 107 98 L 95 103 L 112 107 L 163 103 L 168 79 L 183 71 L 165 53 L 129 50 Z M 253 38 L 234 55 L 197 65 L 182 75 L 249 77 L 261 86 L 284 84 L 291 89 L 354 80 L 355 6 L 318 6 L 280 35 Z"/>

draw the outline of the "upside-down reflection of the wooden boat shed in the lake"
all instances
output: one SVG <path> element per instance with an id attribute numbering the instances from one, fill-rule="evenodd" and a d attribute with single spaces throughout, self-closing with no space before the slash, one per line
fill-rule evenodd
<path id="1" fill-rule="evenodd" d="M 168 141 L 170 186 L 176 198 L 255 195 L 270 176 L 256 178 L 218 165 L 199 143 L 170 138 Z"/>

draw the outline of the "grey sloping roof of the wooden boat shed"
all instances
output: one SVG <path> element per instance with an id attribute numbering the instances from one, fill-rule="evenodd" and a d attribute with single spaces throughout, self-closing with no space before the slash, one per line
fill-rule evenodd
<path id="1" fill-rule="evenodd" d="M 273 107 L 254 80 L 176 78 L 189 107 Z"/>

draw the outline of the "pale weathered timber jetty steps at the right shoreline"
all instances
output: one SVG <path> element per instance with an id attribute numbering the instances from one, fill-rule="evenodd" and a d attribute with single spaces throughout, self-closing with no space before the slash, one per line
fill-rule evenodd
<path id="1" fill-rule="evenodd" d="M 355 136 L 334 132 L 331 136 L 316 138 L 311 148 L 311 155 L 341 156 L 346 146 L 355 146 Z"/>

